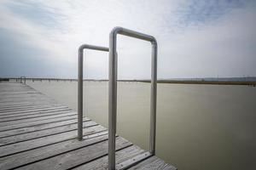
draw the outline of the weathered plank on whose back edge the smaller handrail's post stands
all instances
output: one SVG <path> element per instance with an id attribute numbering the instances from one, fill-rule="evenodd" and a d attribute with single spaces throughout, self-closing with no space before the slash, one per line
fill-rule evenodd
<path id="1" fill-rule="evenodd" d="M 12 156 L 5 156 L 0 158 L 0 169 L 12 169 L 31 164 L 36 161 L 41 161 L 53 156 L 58 156 L 67 153 L 71 150 L 86 147 L 90 144 L 95 144 L 108 139 L 108 132 L 94 133 L 87 136 L 87 139 L 79 141 L 78 139 L 70 139 L 57 144 L 49 144 L 34 150 L 27 150 Z M 22 159 L 20 159 L 20 157 Z"/>

